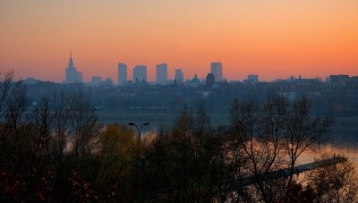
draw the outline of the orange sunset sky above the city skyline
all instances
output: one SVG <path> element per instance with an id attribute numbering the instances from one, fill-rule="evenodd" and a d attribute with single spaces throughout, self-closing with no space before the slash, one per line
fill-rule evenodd
<path id="1" fill-rule="evenodd" d="M 259 80 L 358 75 L 357 0 L 1 0 L 0 72 L 64 81 L 70 52 L 84 80 L 117 63 L 168 63 L 168 76 Z"/>

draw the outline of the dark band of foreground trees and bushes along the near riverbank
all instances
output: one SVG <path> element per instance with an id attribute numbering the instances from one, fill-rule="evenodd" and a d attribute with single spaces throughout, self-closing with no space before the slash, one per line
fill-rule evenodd
<path id="1" fill-rule="evenodd" d="M 143 202 L 357 201 L 349 162 L 294 175 L 333 124 L 311 115 L 304 97 L 233 100 L 230 123 L 217 127 L 203 106 L 183 107 L 171 129 L 141 140 L 141 156 L 136 131 L 100 124 L 81 92 L 57 92 L 35 108 L 28 99 L 12 73 L 2 77 L 1 202 L 136 202 L 140 193 Z M 268 178 L 283 168 L 288 176 Z"/>

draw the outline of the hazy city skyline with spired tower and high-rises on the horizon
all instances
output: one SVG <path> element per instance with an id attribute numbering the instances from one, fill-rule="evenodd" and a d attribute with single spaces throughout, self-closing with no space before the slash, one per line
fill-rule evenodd
<path id="1" fill-rule="evenodd" d="M 153 70 L 150 70 L 150 68 L 148 68 L 148 66 L 146 64 L 136 64 L 134 65 L 132 68 L 128 69 L 127 64 L 126 63 L 117 63 L 117 72 L 116 72 L 116 77 L 111 77 L 111 76 L 98 76 L 98 75 L 90 75 L 89 76 L 89 80 L 83 80 L 83 72 L 79 72 L 77 70 L 77 68 L 74 66 L 73 63 L 73 59 L 72 59 L 72 51 L 70 53 L 70 57 L 69 57 L 69 63 L 68 66 L 65 68 L 65 72 L 64 72 L 64 80 L 62 81 L 55 81 L 55 80 L 48 80 L 48 81 L 54 81 L 54 82 L 59 82 L 59 83 L 77 83 L 77 82 L 83 82 L 83 83 L 92 83 L 95 85 L 99 85 L 100 82 L 109 82 L 109 83 L 113 83 L 119 86 L 125 86 L 128 85 L 128 82 L 153 82 L 155 84 L 169 84 L 167 82 L 173 82 L 174 80 L 176 80 L 176 78 L 179 78 L 180 80 L 177 81 L 190 81 L 192 79 L 198 78 L 200 80 L 206 80 L 208 79 L 208 74 L 212 74 L 213 77 L 215 77 L 216 82 L 224 82 L 227 80 L 226 77 L 224 77 L 225 75 L 223 74 L 223 63 L 219 62 L 219 61 L 214 61 L 210 63 L 209 66 L 209 70 L 207 73 L 206 77 L 202 77 L 202 76 L 198 76 L 198 74 L 195 72 L 193 76 L 188 76 L 187 78 L 183 77 L 183 71 L 182 69 L 178 69 L 175 68 L 175 70 L 171 70 L 170 68 L 168 68 L 168 64 L 167 63 L 158 63 L 156 64 L 156 66 L 153 68 Z M 132 72 L 132 73 L 131 73 Z M 150 80 L 148 78 L 149 72 L 154 72 L 155 73 L 155 78 Z M 173 77 L 168 77 L 168 72 L 170 75 L 173 75 Z M 174 74 L 172 74 L 174 73 Z M 217 76 L 215 76 L 217 75 Z M 286 78 L 274 78 L 273 80 L 259 80 L 258 79 L 258 74 L 253 74 L 253 73 L 248 73 L 246 74 L 243 78 L 243 82 L 258 82 L 258 81 L 275 81 L 275 80 L 293 80 L 293 79 L 301 79 L 302 75 L 298 74 L 298 75 L 287 75 Z M 298 77 L 297 77 L 298 76 Z M 337 74 L 330 74 L 325 76 L 324 78 L 319 77 L 319 76 L 314 76 L 311 78 L 306 78 L 306 79 L 315 79 L 315 80 L 330 80 L 329 78 L 331 77 L 337 77 L 337 76 L 345 76 L 345 77 L 358 77 L 358 75 L 349 75 L 349 74 L 345 74 L 345 72 L 340 72 Z M 159 78 L 158 78 L 159 77 Z M 102 79 L 103 78 L 103 79 Z M 141 80 L 139 79 L 141 78 Z M 218 80 L 217 80 L 218 78 Z M 34 77 L 28 77 L 28 78 L 24 78 L 24 79 L 36 79 L 36 80 L 41 80 L 38 78 L 34 78 Z M 227 80 L 230 81 L 230 80 Z M 240 81 L 240 80 L 231 80 L 231 81 Z"/>

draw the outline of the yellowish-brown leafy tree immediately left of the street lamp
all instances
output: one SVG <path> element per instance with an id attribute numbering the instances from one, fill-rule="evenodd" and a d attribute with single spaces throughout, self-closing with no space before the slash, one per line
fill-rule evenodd
<path id="1" fill-rule="evenodd" d="M 120 201 L 128 196 L 132 175 L 132 161 L 136 152 L 134 131 L 127 126 L 108 124 L 99 135 L 99 148 L 96 153 L 98 172 L 95 186 L 100 199 L 113 198 Z M 127 200 L 134 200 L 128 199 Z"/>

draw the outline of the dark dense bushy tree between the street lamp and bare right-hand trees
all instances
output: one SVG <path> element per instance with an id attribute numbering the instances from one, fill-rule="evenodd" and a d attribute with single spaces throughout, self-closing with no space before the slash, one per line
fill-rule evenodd
<path id="1" fill-rule="evenodd" d="M 222 141 L 209 128 L 203 106 L 184 108 L 173 129 L 160 131 L 145 148 L 143 188 L 151 201 L 208 202 L 220 197 Z M 230 173 L 232 174 L 232 173 Z M 227 183 L 227 182 L 226 182 Z M 221 189 L 221 188 L 220 188 Z M 220 193 L 222 194 L 221 190 Z M 223 199 L 220 197 L 220 199 Z"/>

